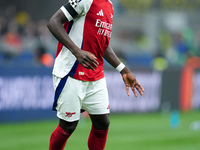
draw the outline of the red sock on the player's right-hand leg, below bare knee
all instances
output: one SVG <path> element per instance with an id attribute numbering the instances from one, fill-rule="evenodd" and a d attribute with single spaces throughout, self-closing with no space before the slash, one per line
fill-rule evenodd
<path id="1" fill-rule="evenodd" d="M 107 135 L 108 135 L 108 129 L 97 130 L 92 126 L 88 138 L 89 150 L 104 150 L 106 146 Z"/>

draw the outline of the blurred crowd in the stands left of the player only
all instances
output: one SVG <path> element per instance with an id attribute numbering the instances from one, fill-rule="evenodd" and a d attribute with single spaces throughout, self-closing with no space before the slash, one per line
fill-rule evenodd
<path id="1" fill-rule="evenodd" d="M 0 15 L 0 58 L 2 64 L 21 62 L 53 64 L 56 40 L 46 27 L 47 20 L 32 20 L 25 11 L 10 4 Z"/>

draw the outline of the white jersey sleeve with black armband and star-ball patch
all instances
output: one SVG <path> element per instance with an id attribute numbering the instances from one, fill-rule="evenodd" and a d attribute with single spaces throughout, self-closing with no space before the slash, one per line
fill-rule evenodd
<path id="1" fill-rule="evenodd" d="M 93 0 L 69 0 L 60 9 L 65 14 L 68 21 L 73 20 L 77 16 L 84 16 L 90 9 Z"/>

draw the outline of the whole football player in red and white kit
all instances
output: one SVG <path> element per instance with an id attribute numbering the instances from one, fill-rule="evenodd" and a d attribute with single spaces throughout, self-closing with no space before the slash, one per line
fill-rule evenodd
<path id="1" fill-rule="evenodd" d="M 103 58 L 122 75 L 128 96 L 129 88 L 136 97 L 136 91 L 143 95 L 143 87 L 109 46 L 113 14 L 110 0 L 69 0 L 48 22 L 59 41 L 53 68 L 53 110 L 59 124 L 51 134 L 49 150 L 64 149 L 81 110 L 92 121 L 89 150 L 105 148 L 110 107 Z"/>

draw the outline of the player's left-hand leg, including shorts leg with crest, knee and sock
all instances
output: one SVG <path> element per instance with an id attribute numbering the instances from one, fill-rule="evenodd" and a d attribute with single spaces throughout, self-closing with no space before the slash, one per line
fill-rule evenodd
<path id="1" fill-rule="evenodd" d="M 63 150 L 80 119 L 80 86 L 79 81 L 67 76 L 62 79 L 54 76 L 53 81 L 56 89 L 53 109 L 57 110 L 59 124 L 51 134 L 49 150 Z"/>

